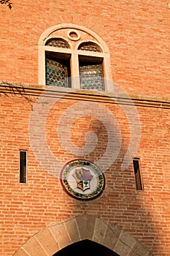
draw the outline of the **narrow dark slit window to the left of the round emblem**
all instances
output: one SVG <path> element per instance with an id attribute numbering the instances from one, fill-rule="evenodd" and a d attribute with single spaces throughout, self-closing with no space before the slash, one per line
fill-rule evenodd
<path id="1" fill-rule="evenodd" d="M 20 150 L 20 183 L 27 182 L 27 151 Z"/>

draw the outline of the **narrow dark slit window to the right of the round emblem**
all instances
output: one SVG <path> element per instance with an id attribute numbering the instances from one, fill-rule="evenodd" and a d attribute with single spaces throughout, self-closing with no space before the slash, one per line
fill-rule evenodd
<path id="1" fill-rule="evenodd" d="M 140 159 L 134 158 L 134 175 L 135 175 L 135 181 L 136 181 L 136 190 L 143 190 L 143 183 L 142 183 L 142 173 L 141 173 L 141 167 L 140 167 Z"/>

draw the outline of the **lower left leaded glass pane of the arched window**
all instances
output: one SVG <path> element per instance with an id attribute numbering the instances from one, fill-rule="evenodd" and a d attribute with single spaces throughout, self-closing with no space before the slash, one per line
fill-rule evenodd
<path id="1" fill-rule="evenodd" d="M 46 84 L 47 86 L 69 87 L 68 67 L 59 61 L 46 59 Z"/>

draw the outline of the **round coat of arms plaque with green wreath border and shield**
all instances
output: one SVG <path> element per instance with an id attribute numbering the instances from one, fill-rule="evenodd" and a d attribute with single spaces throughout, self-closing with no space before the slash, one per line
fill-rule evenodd
<path id="1" fill-rule="evenodd" d="M 74 159 L 61 170 L 61 185 L 72 197 L 92 200 L 104 191 L 104 174 L 92 162 Z"/>

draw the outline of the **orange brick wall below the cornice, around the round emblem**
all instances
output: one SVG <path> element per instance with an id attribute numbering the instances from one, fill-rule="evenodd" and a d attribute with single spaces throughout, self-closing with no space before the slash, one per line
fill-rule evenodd
<path id="1" fill-rule="evenodd" d="M 47 143 L 61 166 L 77 156 L 68 154 L 58 142 L 58 118 L 77 102 L 61 99 L 47 117 Z M 66 195 L 58 177 L 43 170 L 36 161 L 28 138 L 34 108 L 31 110 L 26 99 L 17 96 L 1 98 L 1 255 L 12 255 L 34 233 L 77 214 L 91 214 L 113 222 L 155 255 L 169 255 L 169 110 L 138 107 L 142 137 L 137 157 L 141 158 L 144 191 L 136 191 L 132 162 L 127 170 L 121 170 L 130 140 L 127 118 L 120 105 L 97 104 L 104 105 L 116 117 L 122 145 L 116 161 L 104 172 L 104 195 L 85 203 Z M 85 159 L 96 162 L 107 146 L 108 131 L 101 120 L 82 117 L 74 121 L 69 135 L 80 147 L 89 130 L 96 132 L 98 144 Z M 69 135 L 63 134 L 62 140 Z M 20 149 L 28 150 L 27 184 L 18 183 Z"/>

